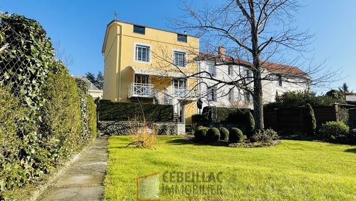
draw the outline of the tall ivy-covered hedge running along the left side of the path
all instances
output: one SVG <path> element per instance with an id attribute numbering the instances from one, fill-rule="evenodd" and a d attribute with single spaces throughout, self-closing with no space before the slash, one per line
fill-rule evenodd
<path id="1" fill-rule="evenodd" d="M 0 18 L 0 200 L 16 200 L 94 138 L 96 111 L 38 22 Z"/>

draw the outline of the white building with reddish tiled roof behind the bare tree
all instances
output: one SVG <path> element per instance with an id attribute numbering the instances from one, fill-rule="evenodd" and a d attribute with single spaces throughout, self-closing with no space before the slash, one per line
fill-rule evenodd
<path id="1" fill-rule="evenodd" d="M 198 63 L 199 91 L 203 108 L 205 106 L 223 106 L 253 108 L 252 95 L 239 87 L 246 82 L 253 88 L 252 64 L 243 60 L 231 60 L 225 56 L 225 47 L 220 46 L 219 55 L 201 54 Z M 263 99 L 265 103 L 274 102 L 276 94 L 287 91 L 305 91 L 309 89 L 310 77 L 297 67 L 264 62 L 262 72 Z M 250 67 L 250 68 L 249 68 Z M 234 85 L 219 83 L 236 82 Z M 246 84 L 243 84 L 246 85 Z"/>

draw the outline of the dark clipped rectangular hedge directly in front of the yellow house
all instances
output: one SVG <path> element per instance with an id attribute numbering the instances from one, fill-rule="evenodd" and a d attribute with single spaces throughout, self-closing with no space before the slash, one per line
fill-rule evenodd
<path id="1" fill-rule="evenodd" d="M 146 121 L 173 122 L 173 106 L 111 102 L 110 100 L 99 102 L 100 121 L 144 121 L 143 117 Z"/>

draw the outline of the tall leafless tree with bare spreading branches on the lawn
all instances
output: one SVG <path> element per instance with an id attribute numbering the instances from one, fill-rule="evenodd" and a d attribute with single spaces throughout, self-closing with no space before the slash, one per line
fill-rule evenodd
<path id="1" fill-rule="evenodd" d="M 293 67 L 301 58 L 307 60 L 307 46 L 314 37 L 294 26 L 293 14 L 300 7 L 296 0 L 227 0 L 220 6 L 204 5 L 199 9 L 184 5 L 186 14 L 171 24 L 175 29 L 201 37 L 200 49 L 205 54 L 199 55 L 200 60 L 215 60 L 216 65 L 236 64 L 252 71 L 251 76 L 246 76 L 239 68 L 239 76 L 233 80 L 218 80 L 207 71 L 187 77 L 208 78 L 216 81 L 217 85 L 236 86 L 250 93 L 255 128 L 264 128 L 263 80 L 283 79 L 283 82 L 307 85 L 335 80 L 335 72 L 322 71 L 325 68 L 323 64 L 313 67 L 302 62 L 298 67 L 303 64 L 303 71 Z M 226 54 L 216 54 L 216 47 L 220 44 L 225 45 Z M 290 55 L 296 56 L 290 58 Z M 275 76 L 277 73 L 283 73 L 283 78 Z"/>

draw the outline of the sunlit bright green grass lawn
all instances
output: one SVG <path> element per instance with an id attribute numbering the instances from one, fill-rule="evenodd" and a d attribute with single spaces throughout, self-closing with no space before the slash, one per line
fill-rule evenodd
<path id="1" fill-rule="evenodd" d="M 232 148 L 160 137 L 156 150 L 144 150 L 125 148 L 129 142 L 109 139 L 106 200 L 136 200 L 134 178 L 165 171 L 223 172 L 223 194 L 161 200 L 356 200 L 356 146 L 283 140 L 275 147 Z"/>

